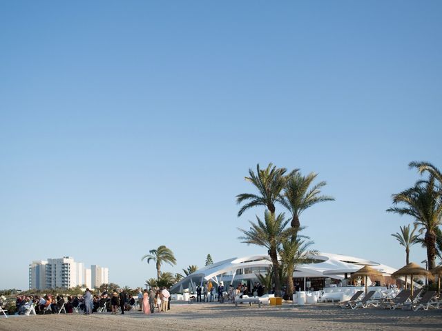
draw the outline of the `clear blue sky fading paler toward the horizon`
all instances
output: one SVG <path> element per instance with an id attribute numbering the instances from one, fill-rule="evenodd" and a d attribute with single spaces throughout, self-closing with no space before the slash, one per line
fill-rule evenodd
<path id="1" fill-rule="evenodd" d="M 441 1 L 1 1 L 0 288 L 74 257 L 135 287 L 247 254 L 249 168 L 318 172 L 314 248 L 392 267 L 391 194 L 442 168 Z M 277 211 L 282 211 L 278 207 Z M 425 251 L 412 249 L 420 263 Z"/>

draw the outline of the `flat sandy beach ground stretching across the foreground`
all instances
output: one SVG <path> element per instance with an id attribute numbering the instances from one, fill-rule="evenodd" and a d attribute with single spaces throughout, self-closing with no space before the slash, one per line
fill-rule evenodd
<path id="1" fill-rule="evenodd" d="M 332 303 L 291 308 L 181 303 L 171 311 L 0 317 L 0 330 L 442 330 L 442 310 L 344 310 Z"/>

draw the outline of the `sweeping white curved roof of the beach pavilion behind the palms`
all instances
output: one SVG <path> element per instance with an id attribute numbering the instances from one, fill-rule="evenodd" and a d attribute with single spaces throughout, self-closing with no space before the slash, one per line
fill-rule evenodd
<path id="1" fill-rule="evenodd" d="M 392 274 L 396 269 L 383 265 L 381 263 L 360 259 L 358 257 L 350 257 L 349 255 L 332 254 L 320 252 L 311 256 L 315 259 L 315 263 L 298 265 L 293 277 L 332 277 L 334 279 L 343 279 L 345 273 L 356 272 L 364 265 L 370 265 L 372 268 L 384 272 L 386 275 Z M 249 257 L 234 257 L 201 268 L 193 274 L 182 279 L 180 282 L 172 286 L 171 291 L 178 290 L 180 287 L 187 288 L 191 283 L 202 283 L 212 280 L 215 283 L 220 281 L 220 277 L 227 277 L 229 280 L 236 277 L 237 270 L 242 268 L 269 268 L 271 261 L 268 255 L 252 255 Z M 241 274 L 237 276 L 255 277 L 254 274 Z"/>

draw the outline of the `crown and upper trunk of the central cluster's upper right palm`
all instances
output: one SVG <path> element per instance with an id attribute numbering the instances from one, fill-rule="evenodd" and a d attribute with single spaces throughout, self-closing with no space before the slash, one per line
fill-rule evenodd
<path id="1" fill-rule="evenodd" d="M 292 174 L 287 181 L 287 185 L 282 192 L 279 201 L 291 213 L 292 228 L 300 228 L 300 214 L 307 208 L 323 201 L 334 201 L 334 197 L 320 195 L 320 188 L 327 183 L 320 181 L 310 188 L 311 183 L 316 179 L 314 172 L 310 172 L 306 177 L 299 172 Z"/>

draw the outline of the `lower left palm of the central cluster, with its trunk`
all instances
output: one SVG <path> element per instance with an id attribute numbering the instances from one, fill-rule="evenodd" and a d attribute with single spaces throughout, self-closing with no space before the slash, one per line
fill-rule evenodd
<path id="1" fill-rule="evenodd" d="M 284 219 L 284 214 L 278 214 L 275 217 L 268 210 L 265 211 L 264 221 L 258 216 L 256 217 L 257 223 L 249 221 L 251 227 L 249 230 L 243 230 L 238 228 L 244 235 L 238 239 L 243 243 L 259 245 L 267 248 L 271 263 L 273 265 L 273 274 L 275 282 L 276 295 L 280 295 L 280 265 L 278 261 L 278 248 L 282 241 L 289 238 L 293 233 L 293 230 L 285 229 L 289 220 Z"/>

